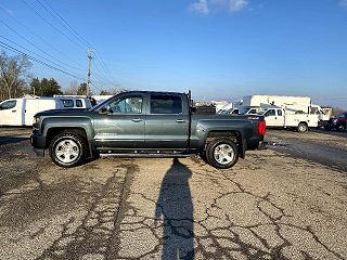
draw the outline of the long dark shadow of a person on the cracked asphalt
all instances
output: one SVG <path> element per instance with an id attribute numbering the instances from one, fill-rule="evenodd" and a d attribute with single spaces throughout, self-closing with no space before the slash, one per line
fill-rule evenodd
<path id="1" fill-rule="evenodd" d="M 175 158 L 163 179 L 155 209 L 155 219 L 164 220 L 162 259 L 194 259 L 191 177 L 191 170 Z"/>

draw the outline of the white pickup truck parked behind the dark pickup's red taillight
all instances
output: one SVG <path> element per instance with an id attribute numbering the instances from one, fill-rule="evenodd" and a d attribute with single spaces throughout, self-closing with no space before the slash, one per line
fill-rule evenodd
<path id="1" fill-rule="evenodd" d="M 288 114 L 283 108 L 267 108 L 261 114 L 269 128 L 296 129 L 298 132 L 306 132 L 309 128 L 317 128 L 319 122 L 318 115 Z"/>

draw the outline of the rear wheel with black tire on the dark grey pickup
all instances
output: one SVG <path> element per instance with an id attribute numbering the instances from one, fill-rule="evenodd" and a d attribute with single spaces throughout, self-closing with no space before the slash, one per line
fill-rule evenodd
<path id="1" fill-rule="evenodd" d="M 230 152 L 224 152 L 229 157 L 231 158 L 230 161 L 228 161 L 227 157 L 222 157 L 220 158 L 218 155 L 215 156 L 215 151 L 220 148 L 220 147 L 229 147 L 228 151 Z M 239 160 L 239 150 L 237 150 L 237 145 L 231 141 L 230 139 L 226 139 L 226 138 L 220 138 L 220 139 L 215 139 L 213 141 L 210 141 L 207 146 L 206 146 L 206 159 L 208 161 L 209 165 L 211 165 L 215 168 L 218 169 L 228 169 L 233 167 L 237 160 Z M 226 155 L 223 155 L 226 156 Z M 217 158 L 220 158 L 219 161 Z M 220 161 L 224 161 L 224 162 L 220 162 Z"/>

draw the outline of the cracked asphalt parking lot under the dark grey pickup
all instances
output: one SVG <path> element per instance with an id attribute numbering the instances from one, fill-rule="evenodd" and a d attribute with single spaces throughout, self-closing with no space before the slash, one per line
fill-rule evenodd
<path id="1" fill-rule="evenodd" d="M 198 157 L 38 158 L 0 128 L 0 259 L 346 259 L 345 133 L 270 130 L 231 170 Z"/>

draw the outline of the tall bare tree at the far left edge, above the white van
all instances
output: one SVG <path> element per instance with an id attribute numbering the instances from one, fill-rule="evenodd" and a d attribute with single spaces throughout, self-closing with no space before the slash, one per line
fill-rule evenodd
<path id="1" fill-rule="evenodd" d="M 0 100 L 18 98 L 27 91 L 27 77 L 31 63 L 24 55 L 0 53 Z"/>

